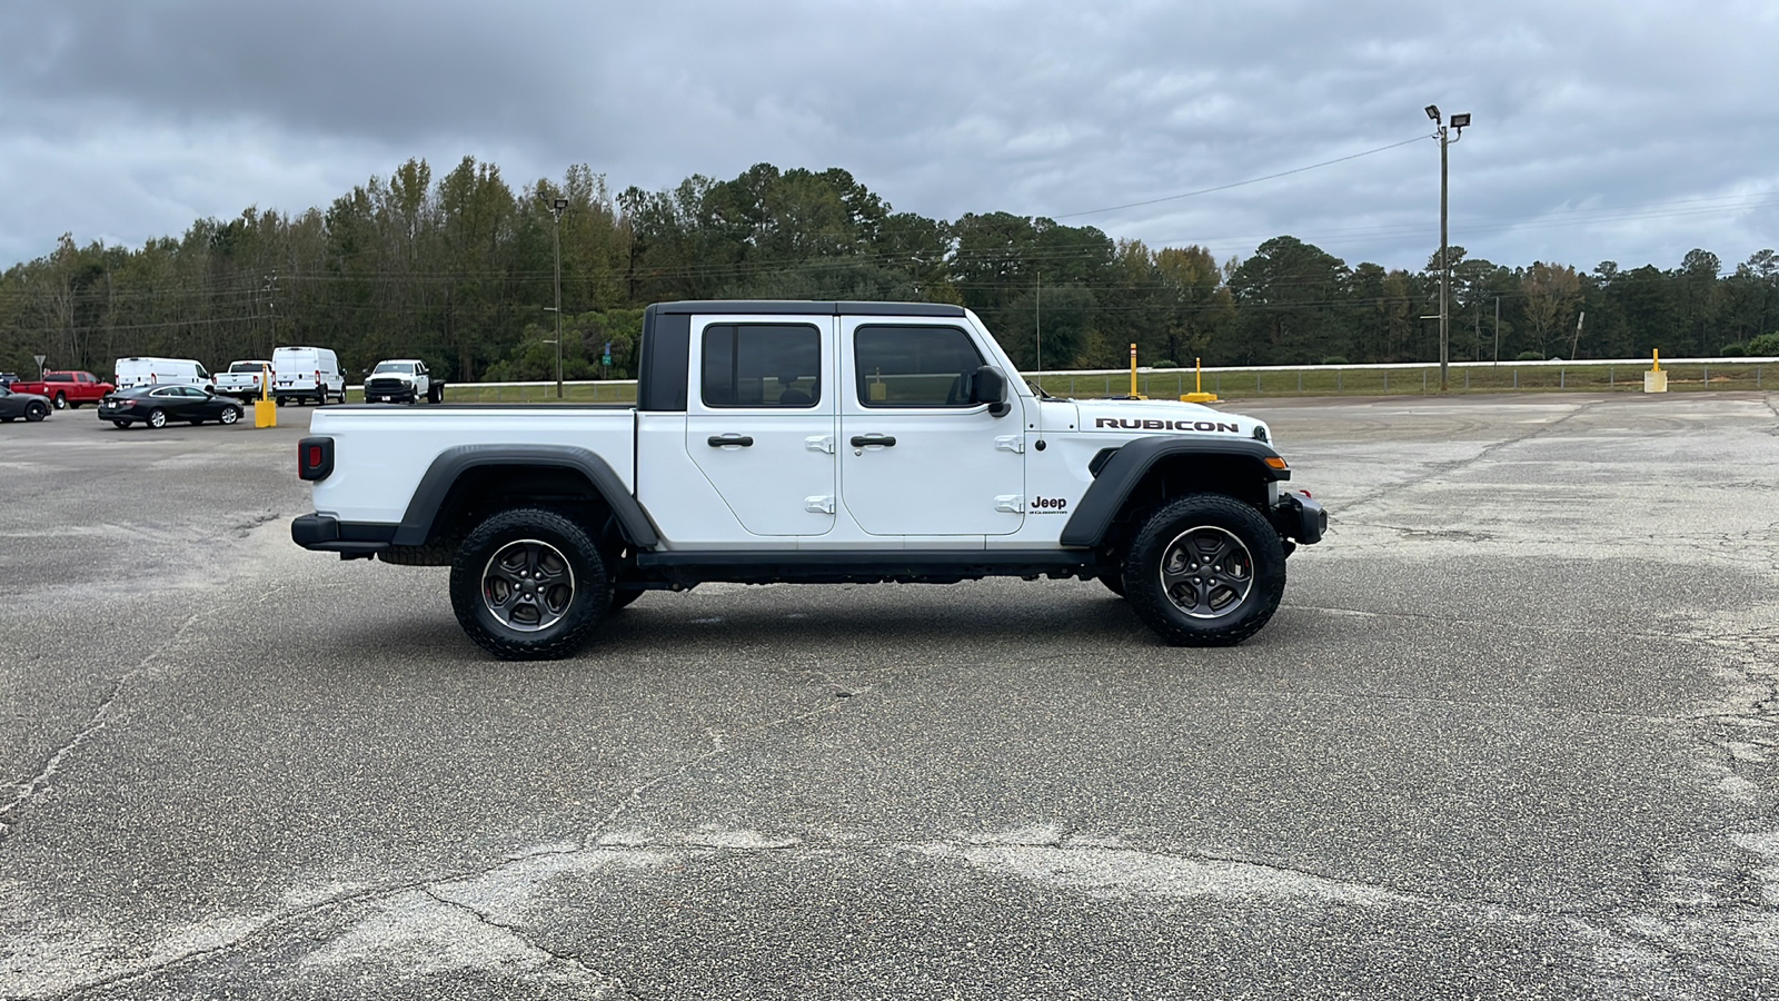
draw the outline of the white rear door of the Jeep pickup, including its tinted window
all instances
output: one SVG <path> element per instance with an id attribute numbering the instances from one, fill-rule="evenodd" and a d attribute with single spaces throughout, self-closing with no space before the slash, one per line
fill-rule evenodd
<path id="1" fill-rule="evenodd" d="M 833 340 L 833 315 L 692 322 L 685 449 L 747 534 L 834 527 Z"/>

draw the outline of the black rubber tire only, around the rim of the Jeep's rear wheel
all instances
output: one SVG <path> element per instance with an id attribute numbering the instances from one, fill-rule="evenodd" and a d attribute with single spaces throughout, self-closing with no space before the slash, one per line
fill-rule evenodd
<path id="1" fill-rule="evenodd" d="M 543 547 L 568 566 L 569 598 L 541 629 L 502 622 L 484 597 L 495 557 L 514 547 Z M 496 584 L 498 586 L 498 584 Z M 612 607 L 612 579 L 600 547 L 573 520 L 548 508 L 509 508 L 489 515 L 464 536 L 450 566 L 450 604 L 457 623 L 479 647 L 503 661 L 569 657 Z M 514 607 L 514 606 L 509 606 Z"/>

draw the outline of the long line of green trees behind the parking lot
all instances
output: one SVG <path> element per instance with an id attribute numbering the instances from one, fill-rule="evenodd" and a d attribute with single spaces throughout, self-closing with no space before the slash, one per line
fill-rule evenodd
<path id="1" fill-rule="evenodd" d="M 559 210 L 557 205 L 562 205 Z M 167 354 L 212 369 L 333 347 L 356 374 L 418 356 L 454 381 L 555 376 L 560 248 L 569 379 L 630 378 L 642 306 L 665 299 L 890 299 L 973 308 L 1025 370 L 1295 365 L 1439 356 L 1439 260 L 1421 271 L 1281 235 L 1252 256 L 1149 248 L 1007 212 L 895 212 L 843 169 L 758 164 L 733 180 L 612 192 L 585 164 L 514 191 L 464 159 L 374 176 L 326 208 L 247 208 L 141 248 L 64 235 L 0 274 L 0 370 L 110 372 Z M 1779 353 L 1779 255 L 1726 269 L 1505 265 L 1450 248 L 1450 356 Z"/>

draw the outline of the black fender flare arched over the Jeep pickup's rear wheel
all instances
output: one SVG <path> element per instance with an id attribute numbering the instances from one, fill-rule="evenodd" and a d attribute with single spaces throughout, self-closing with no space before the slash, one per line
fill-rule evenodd
<path id="1" fill-rule="evenodd" d="M 612 465 L 600 454 L 575 445 L 455 445 L 445 449 L 427 467 L 420 477 L 420 486 L 407 500 L 402 524 L 395 529 L 393 545 L 425 545 L 432 536 L 432 522 L 438 520 L 439 508 L 450 488 L 457 484 L 464 472 L 487 465 L 548 467 L 580 472 L 592 484 L 600 499 L 617 518 L 617 529 L 624 541 L 637 549 L 655 549 L 660 534 L 648 511 L 635 495 L 624 488 L 624 481 L 612 472 Z"/>

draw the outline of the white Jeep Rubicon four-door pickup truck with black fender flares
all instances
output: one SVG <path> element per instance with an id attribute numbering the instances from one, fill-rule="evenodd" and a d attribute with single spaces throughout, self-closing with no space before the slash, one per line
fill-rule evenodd
<path id="1" fill-rule="evenodd" d="M 1327 527 L 1267 426 L 1014 370 L 961 306 L 658 303 L 635 406 L 317 411 L 290 534 L 450 566 L 457 622 L 507 659 L 706 581 L 1098 577 L 1169 643 L 1260 631 Z"/>

